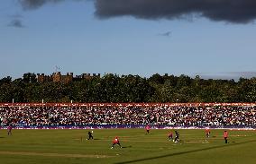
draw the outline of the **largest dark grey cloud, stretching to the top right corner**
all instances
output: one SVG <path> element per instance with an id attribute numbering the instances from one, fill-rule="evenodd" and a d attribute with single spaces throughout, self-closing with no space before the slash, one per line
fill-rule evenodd
<path id="1" fill-rule="evenodd" d="M 101 18 L 133 16 L 158 20 L 177 19 L 196 13 L 213 21 L 251 22 L 256 18 L 255 0 L 96 0 Z"/>

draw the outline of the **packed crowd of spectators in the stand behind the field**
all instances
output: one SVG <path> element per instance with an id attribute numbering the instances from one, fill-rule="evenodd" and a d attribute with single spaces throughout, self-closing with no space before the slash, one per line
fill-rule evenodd
<path id="1" fill-rule="evenodd" d="M 2 125 L 256 125 L 256 107 L 0 107 Z"/>

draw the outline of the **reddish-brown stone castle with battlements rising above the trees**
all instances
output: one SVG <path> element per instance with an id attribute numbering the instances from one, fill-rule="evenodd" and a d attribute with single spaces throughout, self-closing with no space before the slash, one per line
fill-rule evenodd
<path id="1" fill-rule="evenodd" d="M 60 72 L 52 73 L 51 75 L 45 75 L 44 73 L 37 73 L 37 81 L 38 82 L 61 82 L 61 83 L 69 83 L 73 81 L 80 81 L 83 79 L 92 79 L 92 78 L 100 78 L 100 73 L 82 73 L 81 75 L 73 76 L 73 73 L 67 73 L 66 75 L 62 75 Z"/>

